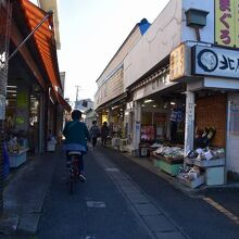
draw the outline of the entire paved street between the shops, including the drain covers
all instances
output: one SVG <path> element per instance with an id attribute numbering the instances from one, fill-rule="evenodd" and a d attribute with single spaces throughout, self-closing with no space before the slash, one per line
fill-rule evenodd
<path id="1" fill-rule="evenodd" d="M 63 179 L 64 156 L 59 156 L 38 234 L 2 238 L 238 238 L 236 190 L 191 198 L 111 149 L 90 151 L 85 162 L 87 183 L 71 196 Z"/>

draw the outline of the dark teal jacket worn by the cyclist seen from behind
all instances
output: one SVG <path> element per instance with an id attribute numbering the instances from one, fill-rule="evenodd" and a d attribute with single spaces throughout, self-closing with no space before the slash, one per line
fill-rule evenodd
<path id="1" fill-rule="evenodd" d="M 86 147 L 87 139 L 90 140 L 86 124 L 79 121 L 66 122 L 63 135 L 65 137 L 65 144 L 78 143 Z"/>

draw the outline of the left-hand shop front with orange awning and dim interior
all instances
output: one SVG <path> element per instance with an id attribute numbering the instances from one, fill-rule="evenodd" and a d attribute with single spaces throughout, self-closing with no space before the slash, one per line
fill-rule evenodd
<path id="1" fill-rule="evenodd" d="M 35 21 L 32 21 L 33 15 Z M 50 17 L 50 13 L 29 1 L 13 3 L 5 108 L 5 131 L 12 167 L 17 167 L 26 160 L 26 151 L 43 152 L 49 129 L 53 128 L 55 133 L 56 106 L 62 102 L 54 93 L 56 100 L 50 105 L 49 89 L 55 92 L 61 90 Z M 41 25 L 36 28 L 40 22 Z M 33 36 L 25 42 L 32 33 Z"/>

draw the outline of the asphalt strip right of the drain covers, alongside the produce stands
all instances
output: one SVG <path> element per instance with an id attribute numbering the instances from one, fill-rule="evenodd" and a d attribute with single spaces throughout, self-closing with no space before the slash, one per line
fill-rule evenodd
<path id="1" fill-rule="evenodd" d="M 101 149 L 102 151 L 102 149 Z M 174 189 L 159 176 L 136 165 L 127 158 L 106 149 L 104 153 L 122 168 L 179 227 L 193 239 L 237 239 L 239 225 L 205 202 Z M 238 191 L 212 191 L 206 198 L 230 210 L 239 217 Z"/>

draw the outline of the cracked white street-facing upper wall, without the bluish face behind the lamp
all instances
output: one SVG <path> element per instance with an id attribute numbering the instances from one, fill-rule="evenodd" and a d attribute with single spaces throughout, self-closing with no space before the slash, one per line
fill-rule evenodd
<path id="1" fill-rule="evenodd" d="M 161 62 L 180 42 L 181 0 L 172 0 L 124 60 L 125 88 Z"/>

